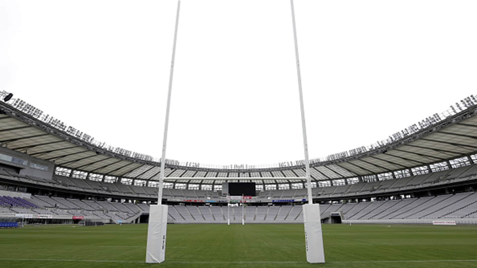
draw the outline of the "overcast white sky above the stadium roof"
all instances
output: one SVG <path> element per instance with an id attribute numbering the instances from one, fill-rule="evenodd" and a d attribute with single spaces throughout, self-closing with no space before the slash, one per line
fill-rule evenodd
<path id="1" fill-rule="evenodd" d="M 477 93 L 477 1 L 296 0 L 310 156 Z M 161 155 L 176 0 L 0 0 L 0 90 Z M 167 158 L 303 159 L 288 0 L 182 0 Z"/>

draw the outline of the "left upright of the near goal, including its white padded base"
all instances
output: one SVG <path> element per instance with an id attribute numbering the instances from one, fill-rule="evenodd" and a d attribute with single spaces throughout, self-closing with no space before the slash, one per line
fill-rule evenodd
<path id="1" fill-rule="evenodd" d="M 166 256 L 167 233 L 167 205 L 162 205 L 162 191 L 164 187 L 164 169 L 166 165 L 167 127 L 169 124 L 169 110 L 171 105 L 172 77 L 174 74 L 174 59 L 176 58 L 177 28 L 179 26 L 180 0 L 177 1 L 176 27 L 172 45 L 171 70 L 169 73 L 169 88 L 167 91 L 166 120 L 164 122 L 164 137 L 162 143 L 161 172 L 159 175 L 159 190 L 157 205 L 149 208 L 149 223 L 147 227 L 146 263 L 161 263 Z"/>

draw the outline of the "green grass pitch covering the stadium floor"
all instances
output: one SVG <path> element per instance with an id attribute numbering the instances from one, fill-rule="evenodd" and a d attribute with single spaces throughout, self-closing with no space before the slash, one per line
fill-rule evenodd
<path id="1" fill-rule="evenodd" d="M 323 225 L 325 264 L 302 224 L 168 225 L 166 262 L 145 264 L 147 225 L 0 229 L 1 268 L 477 267 L 476 226 Z"/>

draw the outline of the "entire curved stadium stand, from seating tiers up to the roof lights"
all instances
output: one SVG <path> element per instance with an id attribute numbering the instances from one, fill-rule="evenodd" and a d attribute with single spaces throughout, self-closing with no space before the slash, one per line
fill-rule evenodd
<path id="1" fill-rule="evenodd" d="M 3 100 L 7 93 L 0 95 Z M 147 220 L 147 204 L 157 200 L 160 159 L 99 142 L 20 99 L 0 101 L 0 112 L 0 217 Z M 312 159 L 312 194 L 322 219 L 477 224 L 476 113 L 471 96 L 376 144 Z M 257 184 L 259 194 L 247 200 L 247 222 L 302 222 L 303 161 L 165 164 L 169 222 L 225 222 L 221 186 L 237 181 Z M 240 222 L 241 213 L 232 208 L 232 222 Z"/>

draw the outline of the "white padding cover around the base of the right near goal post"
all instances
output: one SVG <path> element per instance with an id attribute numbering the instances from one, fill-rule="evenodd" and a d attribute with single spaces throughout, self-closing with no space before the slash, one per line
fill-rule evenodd
<path id="1" fill-rule="evenodd" d="M 325 254 L 321 235 L 320 205 L 303 205 L 303 220 L 305 224 L 306 260 L 309 263 L 323 263 L 325 262 Z"/>

